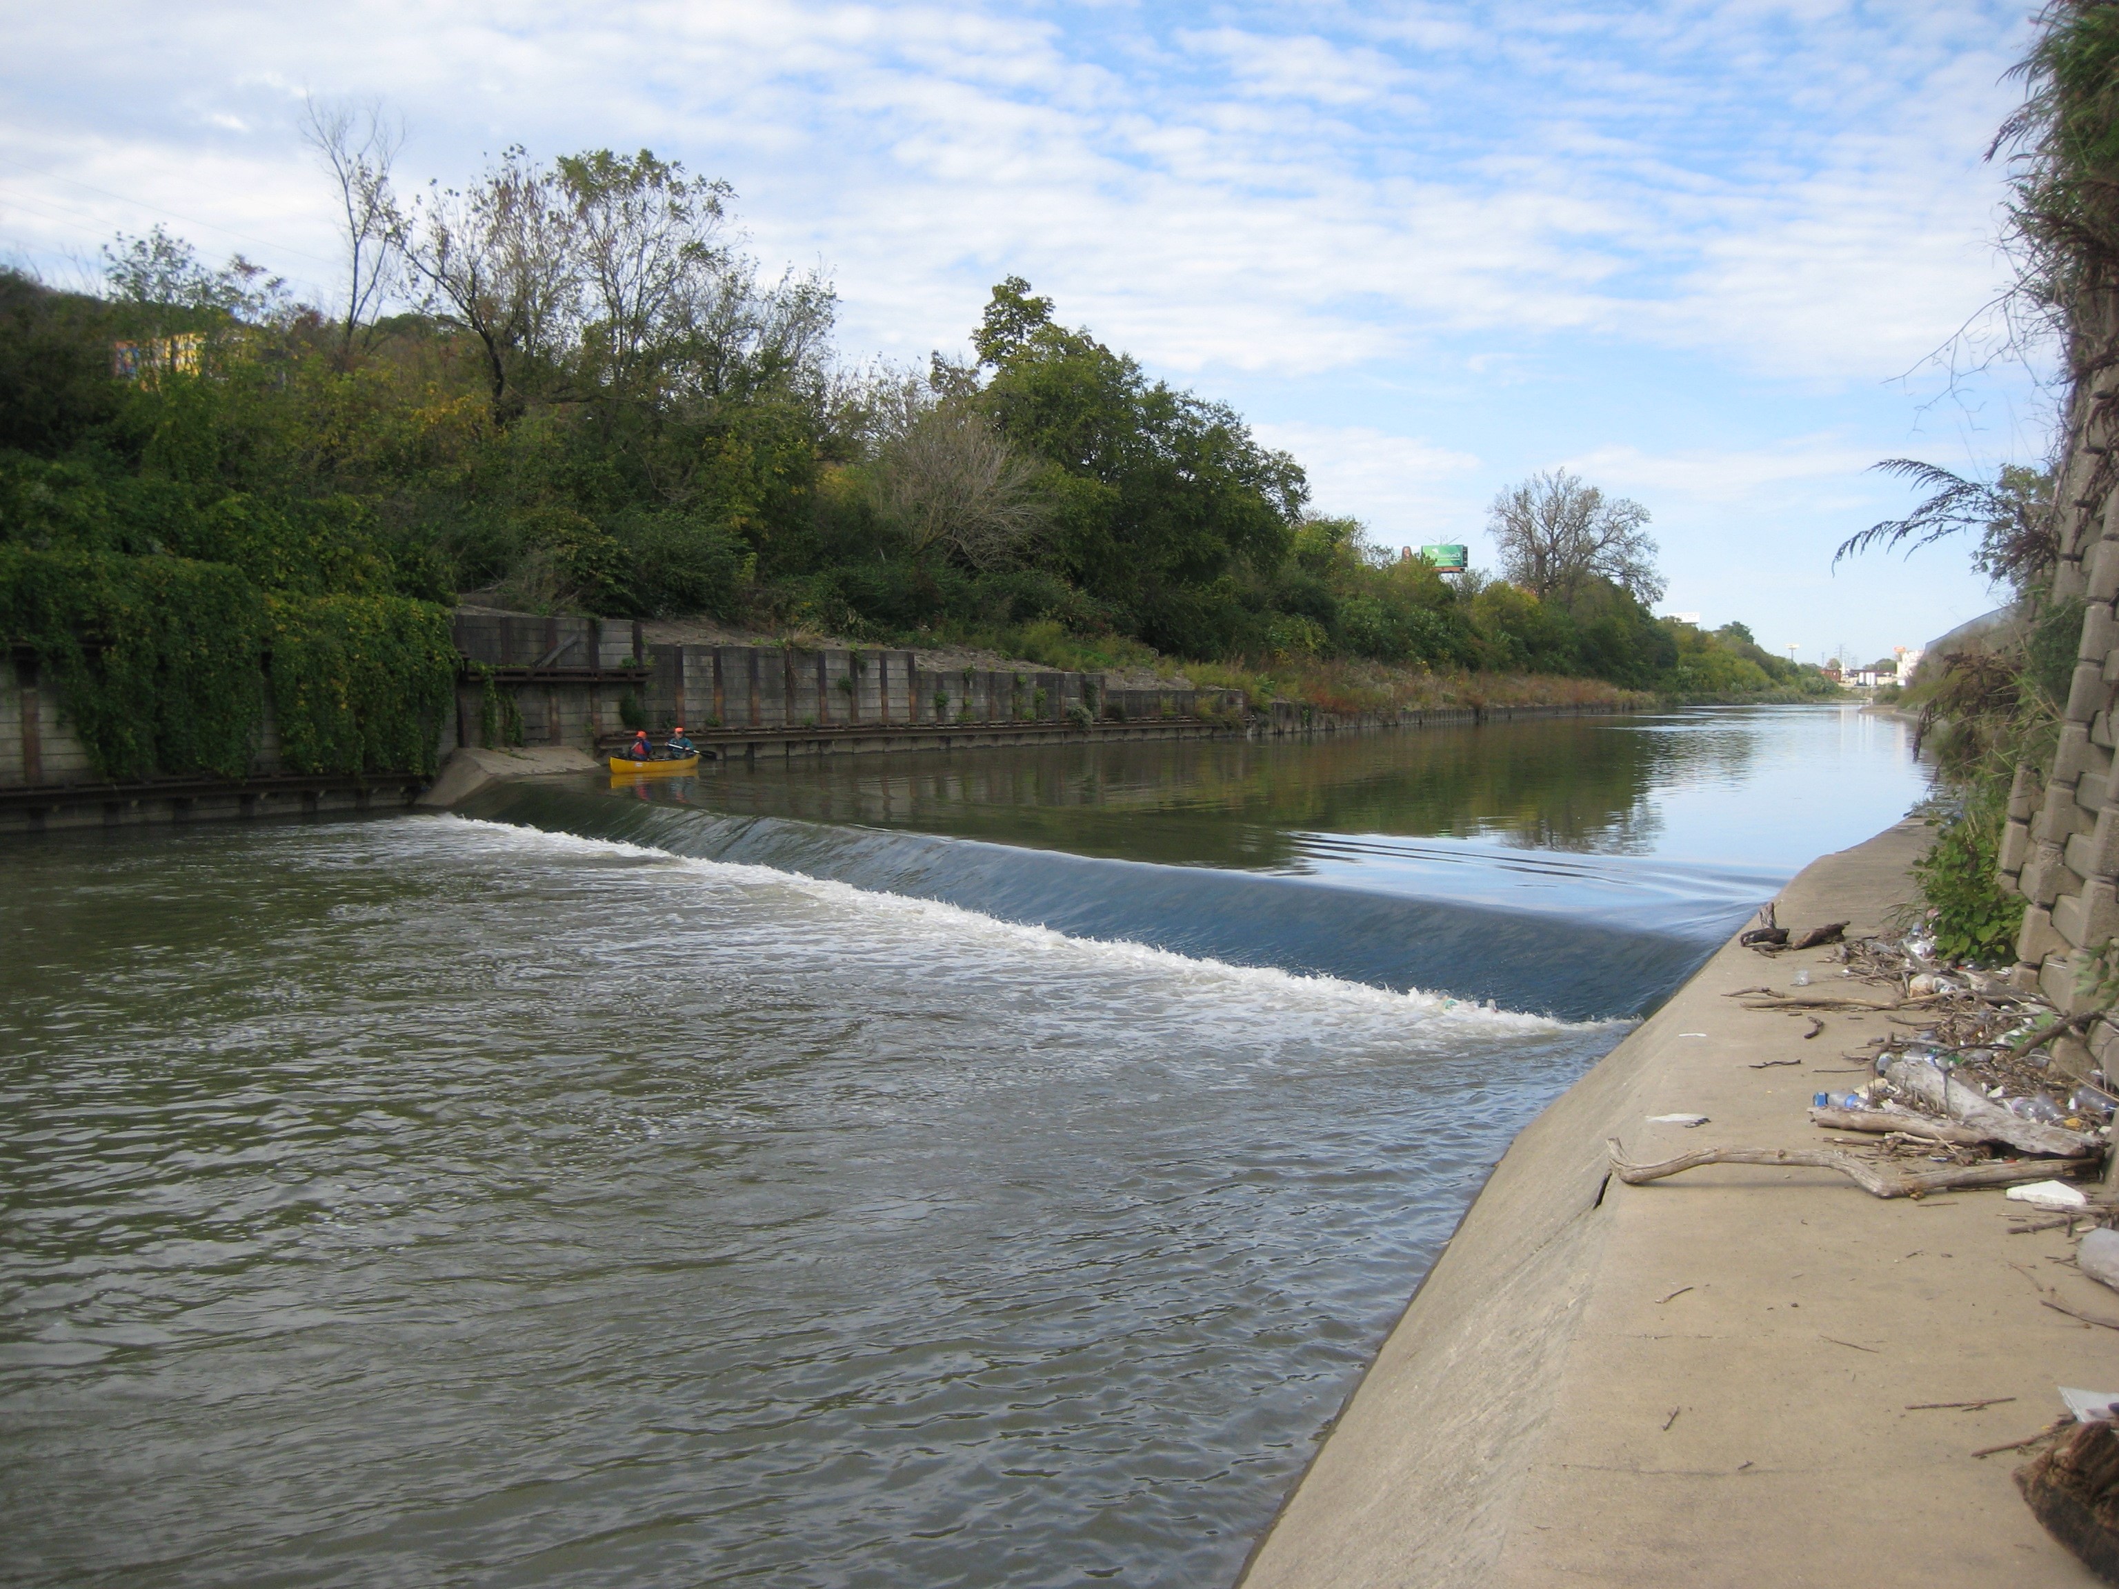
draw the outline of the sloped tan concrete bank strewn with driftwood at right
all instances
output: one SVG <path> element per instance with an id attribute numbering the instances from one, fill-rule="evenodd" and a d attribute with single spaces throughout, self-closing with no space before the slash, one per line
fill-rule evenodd
<path id="1" fill-rule="evenodd" d="M 1877 930 L 1926 837 L 1824 856 L 1780 920 Z M 1827 956 L 1731 941 L 1515 1140 L 1244 1589 L 2096 1583 L 2017 1498 L 2017 1458 L 1971 1456 L 2049 1424 L 2055 1386 L 2119 1390 L 2119 1335 L 2041 1307 L 2119 1316 L 2064 1233 L 2009 1235 L 1998 1191 L 1606 1178 L 1606 1138 L 1634 1159 L 1824 1140 L 1810 1095 L 1854 1085 L 1841 1055 L 1888 1017 L 1803 1040 L 1727 994 L 1803 964 L 1829 994 Z M 1710 1123 L 1649 1123 L 1680 1110 Z"/>

